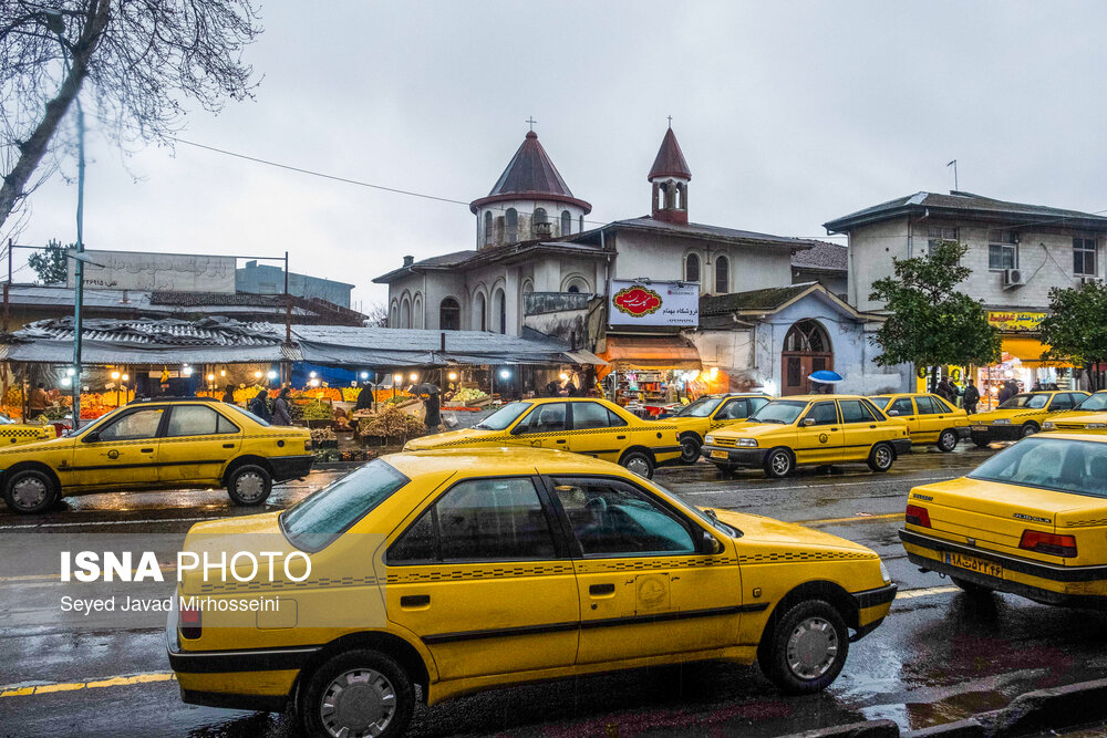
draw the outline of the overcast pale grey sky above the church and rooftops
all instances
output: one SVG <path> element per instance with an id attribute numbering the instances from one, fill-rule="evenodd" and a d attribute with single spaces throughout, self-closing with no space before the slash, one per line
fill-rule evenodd
<path id="1" fill-rule="evenodd" d="M 534 115 L 577 197 L 649 212 L 673 116 L 693 221 L 816 236 L 928 189 L 1107 209 L 1101 2 L 293 2 L 262 6 L 257 98 L 180 134 L 459 200 L 486 195 Z M 87 248 L 280 256 L 358 285 L 405 253 L 473 248 L 468 208 L 178 145 L 90 141 Z M 74 169 L 72 164 L 66 169 Z M 139 179 L 136 181 L 134 177 Z M 74 240 L 75 187 L 23 243 Z M 30 279 L 24 271 L 19 278 Z"/>

